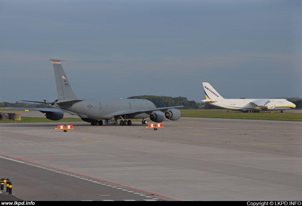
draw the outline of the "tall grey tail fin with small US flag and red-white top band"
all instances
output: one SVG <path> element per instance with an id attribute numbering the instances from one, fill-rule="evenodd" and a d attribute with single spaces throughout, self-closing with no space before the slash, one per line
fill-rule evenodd
<path id="1" fill-rule="evenodd" d="M 77 99 L 78 97 L 72 91 L 61 64 L 61 61 L 64 60 L 50 59 L 50 61 L 53 61 L 58 99 Z"/>

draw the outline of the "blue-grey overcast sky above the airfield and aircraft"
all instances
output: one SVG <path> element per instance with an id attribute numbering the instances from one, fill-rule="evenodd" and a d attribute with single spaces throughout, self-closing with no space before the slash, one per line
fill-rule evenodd
<path id="1" fill-rule="evenodd" d="M 300 0 L 0 0 L 0 28 L 0 102 L 56 100 L 49 59 L 79 98 L 302 97 Z"/>

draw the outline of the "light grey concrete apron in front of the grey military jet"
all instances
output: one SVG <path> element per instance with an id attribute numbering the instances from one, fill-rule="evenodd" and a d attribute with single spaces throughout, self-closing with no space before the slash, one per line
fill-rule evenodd
<path id="1" fill-rule="evenodd" d="M 140 122 L 65 124 L 75 129 L 57 131 L 56 122 L 0 123 L 0 154 L 174 200 L 302 197 L 302 122 L 181 117 L 164 121 L 157 131 Z M 29 183 L 18 189 L 18 178 L 10 180 L 17 198 L 37 187 Z"/>

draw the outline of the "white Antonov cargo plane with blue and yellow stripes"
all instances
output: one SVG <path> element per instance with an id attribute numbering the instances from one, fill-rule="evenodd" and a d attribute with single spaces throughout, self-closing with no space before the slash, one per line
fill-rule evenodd
<path id="1" fill-rule="evenodd" d="M 280 111 L 296 107 L 286 99 L 224 99 L 209 83 L 202 83 L 206 99 L 204 103 L 214 107 L 242 112 Z"/>

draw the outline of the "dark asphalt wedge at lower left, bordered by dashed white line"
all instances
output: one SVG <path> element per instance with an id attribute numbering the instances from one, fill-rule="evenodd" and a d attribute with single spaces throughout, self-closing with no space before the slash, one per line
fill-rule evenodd
<path id="1" fill-rule="evenodd" d="M 5 165 L 1 174 L 13 185 L 14 201 L 163 201 L 152 194 L 126 189 L 55 168 L 25 161 L 11 161 L 0 156 Z M 16 184 L 14 184 L 16 183 Z M 5 190 L 6 192 L 6 187 Z M 0 194 L 0 201 L 9 201 L 9 195 Z"/>

